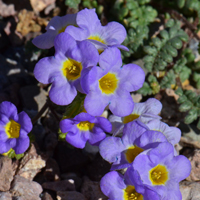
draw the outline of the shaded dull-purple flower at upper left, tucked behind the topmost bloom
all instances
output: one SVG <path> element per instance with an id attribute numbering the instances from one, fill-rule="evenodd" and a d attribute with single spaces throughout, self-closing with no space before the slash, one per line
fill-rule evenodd
<path id="1" fill-rule="evenodd" d="M 69 25 L 77 25 L 76 15 L 68 14 L 63 17 L 53 17 L 46 27 L 47 32 L 34 38 L 32 40 L 33 44 L 40 49 L 50 49 L 53 47 L 54 39 L 59 33 L 64 32 Z"/>

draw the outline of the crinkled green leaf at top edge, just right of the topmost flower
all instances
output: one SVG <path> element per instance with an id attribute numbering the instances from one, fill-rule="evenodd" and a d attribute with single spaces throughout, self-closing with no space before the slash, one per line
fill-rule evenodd
<path id="1" fill-rule="evenodd" d="M 150 0 L 117 0 L 110 12 L 113 19 L 122 23 L 127 30 L 127 38 L 123 45 L 129 48 L 129 52 L 122 52 L 125 57 L 136 53 L 148 39 L 149 27 L 154 22 L 157 11 L 147 5 Z"/>

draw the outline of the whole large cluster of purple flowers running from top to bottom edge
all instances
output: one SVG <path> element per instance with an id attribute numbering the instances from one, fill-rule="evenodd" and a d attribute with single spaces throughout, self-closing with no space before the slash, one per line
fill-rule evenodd
<path id="1" fill-rule="evenodd" d="M 191 170 L 189 160 L 174 148 L 181 132 L 160 121 L 158 100 L 133 102 L 130 92 L 142 87 L 145 74 L 135 64 L 122 65 L 119 49 L 128 51 L 121 45 L 125 28 L 117 22 L 102 26 L 94 9 L 84 9 L 53 18 L 46 30 L 33 43 L 54 46 L 55 55 L 42 58 L 34 75 L 51 84 L 49 97 L 57 105 L 85 95 L 84 109 L 63 118 L 60 129 L 77 148 L 86 142 L 98 145 L 112 163 L 100 183 L 103 193 L 110 200 L 181 200 L 179 182 Z M 100 116 L 106 107 L 113 113 L 109 120 Z M 106 137 L 108 132 L 113 136 Z M 119 169 L 125 174 L 114 171 Z"/>

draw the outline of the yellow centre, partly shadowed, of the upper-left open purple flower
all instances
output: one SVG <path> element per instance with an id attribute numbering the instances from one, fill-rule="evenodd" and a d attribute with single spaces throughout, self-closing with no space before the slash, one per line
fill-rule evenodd
<path id="1" fill-rule="evenodd" d="M 74 81 L 81 76 L 82 65 L 73 59 L 68 59 L 63 62 L 62 73 L 68 81 Z"/>

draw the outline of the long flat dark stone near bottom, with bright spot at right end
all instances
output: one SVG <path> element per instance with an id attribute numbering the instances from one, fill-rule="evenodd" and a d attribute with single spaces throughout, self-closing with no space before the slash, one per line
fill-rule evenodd
<path id="1" fill-rule="evenodd" d="M 63 180 L 55 182 L 45 182 L 42 184 L 42 187 L 47 190 L 52 191 L 73 191 L 75 190 L 74 180 Z"/>

